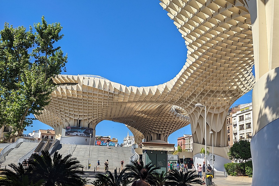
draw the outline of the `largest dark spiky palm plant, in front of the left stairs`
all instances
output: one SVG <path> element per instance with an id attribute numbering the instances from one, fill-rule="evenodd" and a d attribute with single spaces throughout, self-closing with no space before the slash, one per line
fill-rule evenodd
<path id="1" fill-rule="evenodd" d="M 48 151 L 42 151 L 42 156 L 33 155 L 33 160 L 28 160 L 28 171 L 31 173 L 31 179 L 37 182 L 44 179 L 44 186 L 67 185 L 83 186 L 87 179 L 81 177 L 84 174 L 82 165 L 77 158 L 71 158 L 68 154 L 62 158 L 62 154 L 54 153 L 53 159 Z"/>

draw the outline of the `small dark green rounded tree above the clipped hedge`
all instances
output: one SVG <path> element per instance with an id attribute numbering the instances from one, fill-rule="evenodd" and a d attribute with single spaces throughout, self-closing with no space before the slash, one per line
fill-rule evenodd
<path id="1" fill-rule="evenodd" d="M 239 140 L 232 145 L 228 152 L 228 157 L 230 160 L 248 160 L 251 158 L 250 142 L 248 140 Z"/>

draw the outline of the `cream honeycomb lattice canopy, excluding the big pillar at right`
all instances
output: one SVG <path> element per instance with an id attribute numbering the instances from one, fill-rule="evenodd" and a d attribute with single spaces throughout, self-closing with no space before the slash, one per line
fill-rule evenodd
<path id="1" fill-rule="evenodd" d="M 187 61 L 175 78 L 149 87 L 124 86 L 107 79 L 59 75 L 60 85 L 40 121 L 55 128 L 95 128 L 103 120 L 124 123 L 136 143 L 167 141 L 174 131 L 192 124 L 193 142 L 204 143 L 204 110 L 207 128 L 215 131 L 214 145 L 228 145 L 226 117 L 235 100 L 255 83 L 250 14 L 241 0 L 161 0 L 188 48 Z M 210 135 L 208 135 L 210 138 Z"/>

